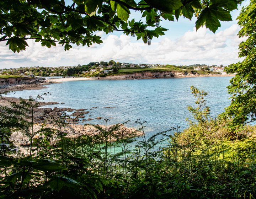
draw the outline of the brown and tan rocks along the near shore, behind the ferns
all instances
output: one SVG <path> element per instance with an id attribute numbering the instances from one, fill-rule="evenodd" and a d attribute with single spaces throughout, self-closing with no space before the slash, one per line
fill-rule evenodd
<path id="1" fill-rule="evenodd" d="M 19 85 L 18 89 L 20 88 L 40 89 L 40 87 L 41 87 L 41 84 L 40 85 Z M 9 90 L 14 90 L 13 88 L 14 87 L 7 87 L 7 89 Z M 2 89 L 5 90 L 6 88 L 2 88 Z M 10 107 L 11 106 L 10 102 L 18 103 L 19 101 L 20 101 L 19 98 L 3 96 L 2 98 L 0 98 L 0 106 Z M 90 125 L 81 125 L 79 123 L 81 121 L 92 120 L 92 119 L 101 120 L 102 117 L 82 119 L 82 118 L 85 118 L 86 114 L 90 113 L 89 111 L 87 111 L 87 109 L 58 108 L 58 107 L 54 107 L 52 109 L 52 108 L 42 107 L 49 104 L 59 104 L 59 103 L 58 102 L 40 102 L 39 107 L 33 110 L 33 117 L 34 117 L 33 130 L 34 131 L 37 131 L 42 127 L 58 129 L 58 126 L 54 124 L 53 118 L 58 118 L 59 116 L 65 113 L 69 115 L 69 117 L 66 119 L 66 121 L 69 123 L 67 127 L 65 127 L 65 133 L 67 133 L 66 136 L 68 137 L 74 136 L 74 129 L 72 128 L 73 122 L 75 123 L 75 137 L 81 136 L 81 135 L 97 135 L 101 133 L 95 127 L 92 127 Z M 92 107 L 92 108 L 97 108 L 97 107 Z M 113 108 L 113 107 L 105 107 L 105 108 Z M 113 125 L 107 126 L 107 129 L 110 129 L 112 126 Z M 100 125 L 100 127 L 105 128 L 105 126 L 103 125 Z M 125 127 L 124 125 L 121 125 L 118 131 L 115 131 L 114 134 L 118 134 L 120 132 L 122 132 L 122 135 L 124 137 L 142 135 L 141 131 L 137 131 L 134 128 Z M 34 138 L 40 138 L 40 135 L 36 135 Z M 58 138 L 56 134 L 54 135 L 53 140 L 57 140 L 57 139 Z M 21 132 L 16 131 L 12 133 L 10 140 L 13 141 L 17 151 L 23 154 L 27 154 L 28 146 L 30 146 L 30 140 L 26 136 L 24 136 Z M 115 140 L 116 139 L 113 139 L 112 141 L 115 141 Z"/>

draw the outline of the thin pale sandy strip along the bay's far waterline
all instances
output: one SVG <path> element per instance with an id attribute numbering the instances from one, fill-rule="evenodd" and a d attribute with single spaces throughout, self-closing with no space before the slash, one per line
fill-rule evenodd
<path id="1" fill-rule="evenodd" d="M 171 78 L 188 78 L 188 77 L 228 77 L 228 76 L 235 76 L 235 74 L 215 74 L 215 75 L 194 75 L 194 76 L 182 76 L 182 77 L 162 77 L 162 78 L 154 78 L 154 77 L 147 77 L 147 78 L 137 78 L 139 79 L 171 79 Z M 113 77 L 114 79 L 111 79 Z M 47 79 L 46 82 L 66 82 L 66 81 L 86 81 L 86 80 L 131 80 L 127 78 L 118 78 L 118 75 L 108 76 L 107 79 L 105 77 L 74 77 L 74 78 L 52 78 Z"/>

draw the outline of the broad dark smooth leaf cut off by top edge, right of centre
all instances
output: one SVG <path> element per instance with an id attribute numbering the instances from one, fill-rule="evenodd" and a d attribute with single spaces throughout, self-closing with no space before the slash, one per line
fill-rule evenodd
<path id="1" fill-rule="evenodd" d="M 173 13 L 174 10 L 183 6 L 180 0 L 145 0 L 145 2 L 165 13 Z"/>

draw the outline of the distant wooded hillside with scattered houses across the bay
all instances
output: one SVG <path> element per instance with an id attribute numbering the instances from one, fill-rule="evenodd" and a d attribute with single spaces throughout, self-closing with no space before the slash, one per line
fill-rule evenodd
<path id="1" fill-rule="evenodd" d="M 221 72 L 225 71 L 225 66 L 220 65 L 206 65 L 206 64 L 193 64 L 193 65 L 165 65 L 165 64 L 131 64 L 131 63 L 119 63 L 114 60 L 109 62 L 91 62 L 86 65 L 78 66 L 59 66 L 59 67 L 20 67 L 10 69 L 0 69 L 0 75 L 21 75 L 21 76 L 99 76 L 107 75 L 113 72 L 117 72 L 120 69 L 143 69 L 143 68 L 180 68 L 190 70 L 202 70 L 202 71 L 214 71 Z M 225 73 L 225 72 L 224 72 Z"/>

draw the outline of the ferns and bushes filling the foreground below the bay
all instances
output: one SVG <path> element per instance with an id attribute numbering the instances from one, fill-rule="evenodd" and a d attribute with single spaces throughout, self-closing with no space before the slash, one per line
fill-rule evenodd
<path id="1" fill-rule="evenodd" d="M 0 112 L 1 198 L 255 198 L 256 128 L 227 128 L 229 118 L 210 117 L 207 92 L 191 87 L 196 106 L 190 126 L 146 137 L 125 135 L 121 124 L 99 133 L 66 136 L 66 115 L 51 117 L 33 130 L 36 99 L 20 99 Z M 25 119 L 26 118 L 26 119 Z M 49 117 L 50 119 L 50 117 Z M 75 119 L 74 119 L 75 120 Z M 129 121 L 128 121 L 129 122 Z M 15 152 L 14 131 L 30 140 L 27 153 Z M 137 141 L 136 141 L 137 140 Z"/>

